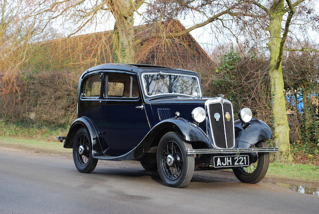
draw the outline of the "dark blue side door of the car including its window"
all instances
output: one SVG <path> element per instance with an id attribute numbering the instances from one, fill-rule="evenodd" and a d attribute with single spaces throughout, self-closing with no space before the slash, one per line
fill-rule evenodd
<path id="1" fill-rule="evenodd" d="M 150 125 L 135 73 L 107 71 L 103 82 L 102 149 L 106 155 L 119 156 L 136 147 Z"/>

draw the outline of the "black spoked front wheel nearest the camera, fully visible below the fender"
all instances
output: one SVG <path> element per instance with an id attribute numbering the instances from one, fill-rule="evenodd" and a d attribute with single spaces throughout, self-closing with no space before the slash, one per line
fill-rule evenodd
<path id="1" fill-rule="evenodd" d="M 187 155 L 187 149 L 192 149 L 192 146 L 174 132 L 168 132 L 160 139 L 157 163 L 164 185 L 182 188 L 190 182 L 195 161 L 193 155 Z"/>

